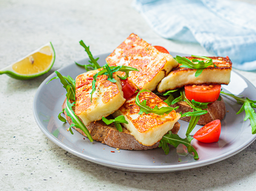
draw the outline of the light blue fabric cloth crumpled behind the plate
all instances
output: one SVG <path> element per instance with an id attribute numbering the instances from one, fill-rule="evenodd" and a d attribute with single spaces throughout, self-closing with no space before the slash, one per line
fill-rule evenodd
<path id="1" fill-rule="evenodd" d="M 135 7 L 166 39 L 198 42 L 229 58 L 234 68 L 256 70 L 256 6 L 228 0 L 135 0 Z"/>

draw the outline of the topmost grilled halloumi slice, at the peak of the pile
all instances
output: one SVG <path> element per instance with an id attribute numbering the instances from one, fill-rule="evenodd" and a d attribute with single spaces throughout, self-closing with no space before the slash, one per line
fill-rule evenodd
<path id="1" fill-rule="evenodd" d="M 130 34 L 107 58 L 110 66 L 131 66 L 139 71 L 130 71 L 129 80 L 140 89 L 153 91 L 158 83 L 178 66 L 178 62 L 170 54 L 161 53 L 155 47 Z"/>

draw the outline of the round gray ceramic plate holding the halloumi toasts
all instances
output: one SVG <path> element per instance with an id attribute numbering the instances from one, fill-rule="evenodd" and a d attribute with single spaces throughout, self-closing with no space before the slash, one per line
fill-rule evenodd
<path id="1" fill-rule="evenodd" d="M 170 53 L 176 56 L 178 53 Z M 109 54 L 101 54 L 98 57 L 99 63 L 104 65 L 105 58 Z M 186 56 L 184 54 L 178 54 Z M 88 59 L 81 60 L 79 63 L 88 63 Z M 78 74 L 84 73 L 85 70 L 76 66 L 75 63 L 67 65 L 59 70 L 64 75 L 70 75 L 75 79 Z M 65 99 L 66 90 L 62 88 L 59 80 L 53 80 L 48 85 L 45 85 L 55 73 L 51 74 L 39 86 L 35 94 L 33 103 L 33 113 L 36 123 L 44 134 L 57 144 L 62 149 L 92 161 L 93 163 L 114 169 L 127 170 L 133 172 L 172 172 L 178 170 L 192 169 L 195 167 L 205 166 L 207 164 L 217 163 L 232 155 L 237 154 L 251 144 L 256 135 L 251 133 L 251 125 L 249 120 L 243 121 L 244 112 L 235 115 L 241 105 L 237 105 L 233 100 L 224 98 L 226 102 L 227 114 L 221 121 L 221 135 L 218 143 L 199 143 L 197 140 L 192 140 L 192 144 L 197 149 L 200 159 L 195 161 L 193 156 L 186 154 L 183 147 L 170 147 L 169 155 L 165 155 L 161 148 L 150 151 L 125 151 L 120 152 L 116 149 L 101 144 L 99 142 L 90 141 L 76 131 L 74 135 L 67 131 L 69 125 L 58 120 L 58 114 L 61 111 L 61 105 Z M 231 83 L 223 86 L 224 91 L 232 94 L 242 94 L 252 100 L 256 100 L 255 87 L 240 74 L 232 71 Z M 180 137 L 184 137 L 188 123 L 179 121 L 181 129 L 178 132 Z M 196 126 L 192 134 L 198 131 L 201 126 Z M 110 152 L 115 151 L 115 153 Z M 244 158 L 246 161 L 246 158 Z"/>

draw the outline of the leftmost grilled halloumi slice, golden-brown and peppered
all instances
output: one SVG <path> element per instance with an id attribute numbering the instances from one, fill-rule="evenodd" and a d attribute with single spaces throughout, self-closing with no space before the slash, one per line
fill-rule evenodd
<path id="1" fill-rule="evenodd" d="M 113 73 L 116 83 L 107 80 L 106 75 L 97 77 L 96 91 L 93 92 L 92 103 L 90 102 L 93 76 L 99 71 L 88 71 L 76 77 L 75 114 L 83 120 L 85 126 L 112 114 L 126 101 L 120 79 Z"/>

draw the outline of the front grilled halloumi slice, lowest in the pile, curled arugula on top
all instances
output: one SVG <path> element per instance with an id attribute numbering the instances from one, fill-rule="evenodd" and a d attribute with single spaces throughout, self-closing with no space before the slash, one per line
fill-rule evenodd
<path id="1" fill-rule="evenodd" d="M 123 126 L 130 131 L 130 134 L 133 135 L 139 143 L 145 146 L 152 146 L 160 141 L 163 135 L 173 128 L 173 125 L 179 120 L 181 115 L 174 110 L 164 115 L 153 113 L 143 113 L 139 115 L 140 107 L 136 105 L 135 98 L 136 94 L 126 100 L 124 105 L 112 115 L 114 117 L 124 115 L 124 118 L 126 118 L 129 124 L 123 124 Z M 147 106 L 152 109 L 155 108 L 156 105 L 158 108 L 168 106 L 160 97 L 153 94 L 153 92 L 141 92 L 139 99 L 140 102 L 146 100 Z"/>

